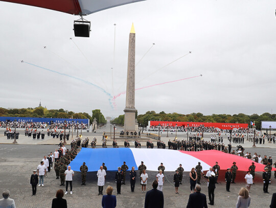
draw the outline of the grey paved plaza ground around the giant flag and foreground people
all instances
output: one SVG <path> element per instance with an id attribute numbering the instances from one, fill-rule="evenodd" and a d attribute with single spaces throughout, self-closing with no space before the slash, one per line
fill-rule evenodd
<path id="1" fill-rule="evenodd" d="M 0 145 L 0 187 L 3 191 L 8 189 L 11 191 L 11 198 L 15 199 L 16 207 L 51 207 L 52 199 L 55 197 L 55 192 L 65 187 L 60 187 L 60 181 L 55 179 L 55 171 L 44 180 L 44 187 L 37 187 L 36 196 L 32 196 L 30 183 L 30 175 L 37 168 L 40 160 L 44 155 L 56 149 L 56 145 Z M 272 148 L 246 148 L 245 151 L 258 152 L 258 154 L 271 154 L 273 159 L 276 159 L 276 153 Z M 157 156 L 157 155 L 156 155 Z M 177 158 L 176 158 L 177 159 Z M 181 162 L 181 161 L 180 161 Z M 145 164 L 147 165 L 147 164 Z M 164 164 L 166 167 L 166 164 Z M 197 165 L 197 164 L 195 164 Z M 108 168 L 108 167 L 107 167 Z M 177 168 L 177 167 L 176 167 Z M 156 167 L 157 170 L 157 167 Z M 190 171 L 190 170 L 185 170 Z M 155 179 L 157 171 L 148 171 L 149 181 L 147 190 L 149 190 L 151 182 Z M 164 197 L 165 207 L 186 207 L 189 194 L 190 182 L 188 172 L 183 176 L 183 184 L 180 185 L 179 193 L 175 194 L 173 186 L 174 172 L 165 171 Z M 263 183 L 261 178 L 262 173 L 257 173 L 257 182 L 251 188 L 251 205 L 250 207 L 268 207 L 271 201 L 272 193 L 276 192 L 276 179 L 272 178 L 269 186 L 270 194 L 264 194 L 262 191 Z M 231 185 L 231 192 L 225 190 L 225 182 L 223 179 L 224 171 L 220 172 L 219 184 L 215 190 L 215 205 L 212 207 L 235 207 L 238 192 L 241 187 L 245 186 L 245 172 L 240 172 L 236 184 Z M 73 178 L 73 195 L 65 195 L 68 207 L 101 207 L 101 196 L 98 196 L 97 176 L 96 172 L 87 173 L 87 186 L 80 186 L 80 172 L 75 172 Z M 114 172 L 107 171 L 106 185 L 111 185 L 114 188 L 113 193 L 116 194 L 116 184 L 114 182 Z M 208 190 L 206 180 L 202 179 L 202 193 L 207 195 Z M 126 185 L 122 185 L 122 195 L 117 196 L 117 207 L 143 207 L 145 193 L 141 193 L 139 181 L 136 181 L 135 192 L 131 193 L 129 179 L 126 180 Z M 211 206 L 211 205 L 210 205 Z"/>

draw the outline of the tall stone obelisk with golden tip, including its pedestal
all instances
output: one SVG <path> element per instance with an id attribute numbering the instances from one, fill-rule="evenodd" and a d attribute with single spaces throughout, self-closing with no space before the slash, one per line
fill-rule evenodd
<path id="1" fill-rule="evenodd" d="M 135 131 L 135 30 L 132 24 L 128 43 L 128 64 L 127 64 L 127 89 L 125 112 L 125 133 Z"/>

